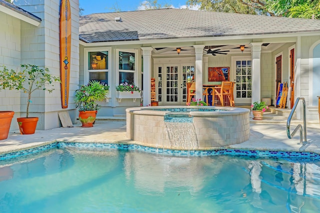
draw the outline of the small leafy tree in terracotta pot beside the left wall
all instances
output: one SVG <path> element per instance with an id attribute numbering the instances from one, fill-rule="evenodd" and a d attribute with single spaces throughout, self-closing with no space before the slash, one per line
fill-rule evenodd
<path id="1" fill-rule="evenodd" d="M 33 134 L 38 117 L 29 117 L 29 105 L 32 103 L 31 94 L 35 90 L 46 90 L 51 93 L 53 81 L 60 82 L 59 77 L 52 76 L 48 68 L 40 68 L 36 65 L 21 64 L 20 70 L 8 70 L 5 66 L 0 70 L 0 89 L 18 90 L 27 95 L 26 115 L 17 118 L 21 134 Z M 52 86 L 52 88 L 47 88 Z"/>

